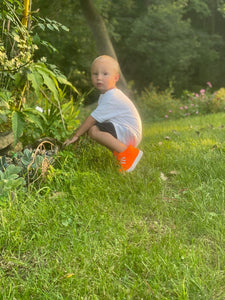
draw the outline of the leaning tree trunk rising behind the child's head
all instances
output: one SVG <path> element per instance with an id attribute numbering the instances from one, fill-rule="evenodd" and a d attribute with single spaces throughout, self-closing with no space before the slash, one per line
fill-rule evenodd
<path id="1" fill-rule="evenodd" d="M 80 0 L 80 5 L 88 26 L 93 33 L 99 55 L 109 55 L 117 60 L 116 52 L 110 40 L 105 22 L 96 10 L 93 0 Z M 122 71 L 120 72 L 118 85 L 124 92 L 128 92 L 127 82 Z"/>

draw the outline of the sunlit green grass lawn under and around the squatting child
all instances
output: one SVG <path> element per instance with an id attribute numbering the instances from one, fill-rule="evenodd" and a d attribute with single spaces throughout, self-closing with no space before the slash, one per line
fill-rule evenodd
<path id="1" fill-rule="evenodd" d="M 125 175 L 86 139 L 61 152 L 2 203 L 0 299 L 225 299 L 224 123 L 144 124 Z"/>

